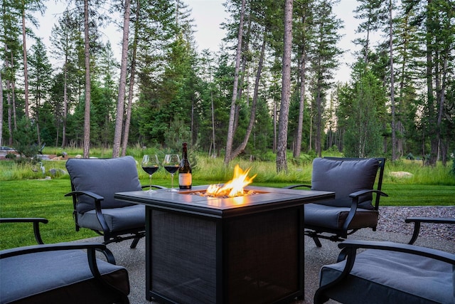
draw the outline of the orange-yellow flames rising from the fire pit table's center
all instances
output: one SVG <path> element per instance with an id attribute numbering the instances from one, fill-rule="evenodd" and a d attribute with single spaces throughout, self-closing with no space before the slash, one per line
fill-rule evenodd
<path id="1" fill-rule="evenodd" d="M 248 177 L 250 169 L 251 167 L 243 171 L 242 168 L 236 164 L 234 168 L 234 176 L 229 182 L 225 183 L 223 187 L 220 187 L 220 185 L 211 184 L 208 186 L 205 193 L 209 196 L 215 197 L 243 196 L 244 188 L 247 187 L 247 185 L 251 184 L 257 175 L 255 174 L 253 177 Z"/>

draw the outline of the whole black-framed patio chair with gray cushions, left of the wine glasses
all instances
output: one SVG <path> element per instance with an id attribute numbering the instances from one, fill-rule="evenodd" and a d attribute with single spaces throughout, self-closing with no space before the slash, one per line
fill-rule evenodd
<path id="1" fill-rule="evenodd" d="M 114 193 L 142 189 L 136 160 L 131 156 L 68 159 L 66 169 L 72 192 L 65 196 L 73 196 L 76 231 L 92 229 L 104 236 L 105 244 L 133 239 L 130 248 L 135 248 L 145 236 L 145 206 L 117 201 Z"/>

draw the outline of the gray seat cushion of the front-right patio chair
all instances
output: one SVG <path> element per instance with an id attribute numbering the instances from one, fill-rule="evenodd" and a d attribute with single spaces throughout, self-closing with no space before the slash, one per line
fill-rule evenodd
<path id="1" fill-rule="evenodd" d="M 320 285 L 338 277 L 345 263 L 323 266 Z M 341 303 L 454 303 L 453 288 L 449 263 L 370 249 L 355 257 L 348 278 L 327 294 Z"/>

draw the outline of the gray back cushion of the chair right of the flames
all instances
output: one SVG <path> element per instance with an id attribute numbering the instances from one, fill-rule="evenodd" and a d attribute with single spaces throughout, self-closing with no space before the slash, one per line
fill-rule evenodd
<path id="1" fill-rule="evenodd" d="M 323 201 L 329 206 L 349 207 L 352 199 L 349 194 L 363 189 L 373 189 L 379 161 L 370 159 L 326 159 L 316 158 L 313 161 L 311 189 L 335 192 L 335 199 Z M 373 209 L 372 195 L 359 198 L 359 206 Z"/>

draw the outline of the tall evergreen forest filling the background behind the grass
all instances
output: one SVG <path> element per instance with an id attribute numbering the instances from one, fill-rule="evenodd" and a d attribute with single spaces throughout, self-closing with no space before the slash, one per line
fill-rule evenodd
<path id="1" fill-rule="evenodd" d="M 343 82 L 339 1 L 225 0 L 219 51 L 198 51 L 184 0 L 62 1 L 50 46 L 36 16 L 53 0 L 1 1 L 0 144 L 83 147 L 84 157 L 112 147 L 119 157 L 188 142 L 226 164 L 272 154 L 277 171 L 287 154 L 323 150 L 445 165 L 455 152 L 455 1 L 355 1 L 360 51 Z M 121 45 L 105 41 L 107 24 Z"/>

